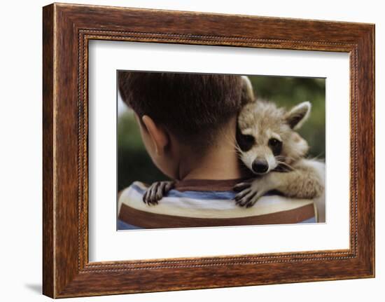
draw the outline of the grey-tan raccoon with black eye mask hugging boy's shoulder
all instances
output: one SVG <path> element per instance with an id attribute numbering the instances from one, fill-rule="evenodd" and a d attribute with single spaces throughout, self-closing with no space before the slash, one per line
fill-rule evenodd
<path id="1" fill-rule="evenodd" d="M 252 207 L 269 191 L 290 198 L 320 198 L 324 191 L 323 163 L 305 158 L 309 145 L 297 132 L 309 118 L 311 104 L 302 102 L 289 111 L 258 100 L 241 109 L 237 149 L 241 162 L 255 178 L 237 184 L 235 203 Z M 317 205 L 321 210 L 321 205 Z"/>

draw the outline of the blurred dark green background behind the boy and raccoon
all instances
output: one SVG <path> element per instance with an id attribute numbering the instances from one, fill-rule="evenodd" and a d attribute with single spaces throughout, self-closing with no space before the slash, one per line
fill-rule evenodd
<path id="1" fill-rule="evenodd" d="M 309 120 L 298 131 L 309 143 L 309 157 L 325 158 L 325 78 L 285 76 L 248 76 L 255 95 L 269 99 L 279 107 L 312 104 Z M 167 179 L 148 156 L 141 141 L 134 113 L 118 96 L 118 191 L 134 181 L 151 184 Z"/>

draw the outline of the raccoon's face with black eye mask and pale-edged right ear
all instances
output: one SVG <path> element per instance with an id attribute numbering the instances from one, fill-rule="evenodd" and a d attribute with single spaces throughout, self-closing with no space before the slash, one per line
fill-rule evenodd
<path id="1" fill-rule="evenodd" d="M 303 157 L 309 146 L 294 130 L 309 116 L 310 103 L 290 111 L 272 103 L 254 102 L 242 109 L 238 118 L 239 157 L 255 174 L 290 170 L 290 163 Z"/>

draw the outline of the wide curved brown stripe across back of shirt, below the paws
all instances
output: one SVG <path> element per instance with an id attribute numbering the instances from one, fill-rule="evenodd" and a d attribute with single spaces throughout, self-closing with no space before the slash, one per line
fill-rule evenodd
<path id="1" fill-rule="evenodd" d="M 119 219 L 140 228 L 188 228 L 203 226 L 250 226 L 259 224 L 297 224 L 314 217 L 314 205 L 304 205 L 293 210 L 235 218 L 197 218 L 156 214 L 134 209 L 123 204 Z"/>

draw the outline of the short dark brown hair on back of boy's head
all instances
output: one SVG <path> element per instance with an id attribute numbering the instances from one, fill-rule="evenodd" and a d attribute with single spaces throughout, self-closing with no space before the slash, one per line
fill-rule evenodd
<path id="1" fill-rule="evenodd" d="M 123 101 L 182 142 L 205 144 L 241 109 L 241 76 L 119 71 Z"/>

